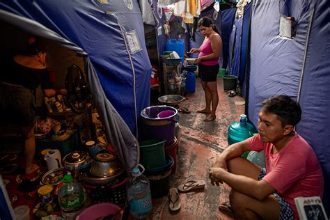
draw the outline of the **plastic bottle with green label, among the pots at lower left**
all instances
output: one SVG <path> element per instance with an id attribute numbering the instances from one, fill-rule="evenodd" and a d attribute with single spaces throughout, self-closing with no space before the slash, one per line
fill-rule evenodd
<path id="1" fill-rule="evenodd" d="M 84 206 L 85 193 L 78 182 L 72 182 L 71 174 L 63 178 L 63 185 L 58 189 L 58 204 L 61 207 L 62 217 L 68 220 L 76 219 Z"/>

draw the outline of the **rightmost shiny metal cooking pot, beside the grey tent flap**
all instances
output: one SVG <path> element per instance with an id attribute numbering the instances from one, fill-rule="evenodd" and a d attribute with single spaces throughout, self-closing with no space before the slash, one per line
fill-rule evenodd
<path id="1" fill-rule="evenodd" d="M 100 178 L 109 177 L 116 173 L 116 156 L 109 152 L 100 152 L 92 160 L 90 173 Z"/>

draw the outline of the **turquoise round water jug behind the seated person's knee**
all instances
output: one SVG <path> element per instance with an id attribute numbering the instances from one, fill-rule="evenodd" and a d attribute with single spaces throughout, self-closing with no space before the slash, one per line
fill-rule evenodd
<path id="1" fill-rule="evenodd" d="M 249 139 L 257 132 L 256 127 L 246 121 L 246 115 L 240 115 L 239 123 L 233 123 L 228 127 L 228 144 L 237 143 Z M 249 152 L 244 152 L 242 157 L 246 158 Z"/>

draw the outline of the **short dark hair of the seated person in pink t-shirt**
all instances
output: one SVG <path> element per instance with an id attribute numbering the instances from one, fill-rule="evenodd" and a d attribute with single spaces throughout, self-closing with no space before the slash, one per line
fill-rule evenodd
<path id="1" fill-rule="evenodd" d="M 301 108 L 297 101 L 288 95 L 277 95 L 262 102 L 262 109 L 274 113 L 281 120 L 282 126 L 295 126 L 301 120 Z"/>

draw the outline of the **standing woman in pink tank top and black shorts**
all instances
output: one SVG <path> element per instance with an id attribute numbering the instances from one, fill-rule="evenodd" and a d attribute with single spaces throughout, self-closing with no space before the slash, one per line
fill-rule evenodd
<path id="1" fill-rule="evenodd" d="M 197 112 L 209 114 L 205 121 L 212 121 L 217 118 L 215 113 L 219 102 L 217 74 L 219 71 L 222 40 L 212 19 L 202 17 L 198 22 L 198 27 L 204 34 L 205 39 L 201 47 L 191 49 L 190 53 L 199 53 L 195 64 L 198 65 L 198 76 L 202 80 L 205 92 L 205 109 Z"/>

